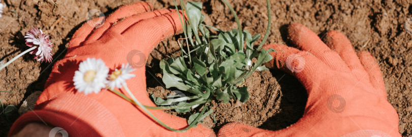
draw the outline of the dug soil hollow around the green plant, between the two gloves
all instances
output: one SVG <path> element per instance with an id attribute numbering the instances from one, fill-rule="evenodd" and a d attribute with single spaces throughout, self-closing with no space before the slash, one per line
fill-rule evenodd
<path id="1" fill-rule="evenodd" d="M 146 84 L 149 94 L 155 97 L 169 95 L 173 88 L 165 89 L 159 62 L 167 56 L 180 56 L 180 47 L 175 36 L 160 43 L 152 51 L 146 65 Z M 239 100 L 231 99 L 227 104 L 212 100 L 212 115 L 216 116 L 216 123 L 212 115 L 204 119 L 203 124 L 214 129 L 215 132 L 230 122 L 240 122 L 255 127 L 279 130 L 296 123 L 303 115 L 307 93 L 302 85 L 292 76 L 281 71 L 270 70 L 254 72 L 245 81 L 250 98 L 244 104 Z M 193 111 L 180 114 L 174 110 L 166 113 L 188 119 Z"/>

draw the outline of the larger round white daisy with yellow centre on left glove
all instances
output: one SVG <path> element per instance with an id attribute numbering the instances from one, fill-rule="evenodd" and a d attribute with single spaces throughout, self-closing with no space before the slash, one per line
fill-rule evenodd
<path id="1" fill-rule="evenodd" d="M 79 70 L 74 73 L 74 88 L 84 94 L 99 93 L 108 83 L 108 73 L 109 68 L 102 59 L 87 58 L 79 64 Z"/>

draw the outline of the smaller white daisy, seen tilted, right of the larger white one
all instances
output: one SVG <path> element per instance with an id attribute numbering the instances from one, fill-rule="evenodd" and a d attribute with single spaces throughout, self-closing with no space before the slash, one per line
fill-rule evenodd
<path id="1" fill-rule="evenodd" d="M 117 88 L 122 88 L 122 84 L 126 85 L 126 80 L 131 79 L 133 77 L 136 77 L 134 74 L 130 74 L 131 72 L 135 71 L 132 66 L 129 65 L 129 63 L 122 64 L 122 68 L 120 70 L 114 70 L 108 77 L 109 79 L 109 87 L 111 89 L 114 89 L 114 87 Z"/>

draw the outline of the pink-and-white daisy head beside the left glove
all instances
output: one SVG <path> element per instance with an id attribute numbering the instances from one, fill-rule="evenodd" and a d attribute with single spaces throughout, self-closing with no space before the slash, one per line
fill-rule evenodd
<path id="1" fill-rule="evenodd" d="M 24 38 L 26 38 L 25 41 L 28 47 L 37 47 L 30 52 L 30 54 L 36 55 L 34 59 L 37 59 L 37 61 L 41 62 L 51 62 L 52 57 L 50 52 L 51 47 L 53 47 L 53 43 L 50 42 L 49 36 L 47 34 L 44 34 L 43 31 L 39 28 L 32 27 L 32 29 L 26 32 Z"/>

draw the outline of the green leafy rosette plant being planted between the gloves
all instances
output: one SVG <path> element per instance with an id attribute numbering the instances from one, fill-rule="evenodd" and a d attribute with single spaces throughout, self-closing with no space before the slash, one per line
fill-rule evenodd
<path id="1" fill-rule="evenodd" d="M 230 99 L 246 102 L 249 99 L 247 86 L 244 81 L 254 71 L 268 70 L 262 65 L 273 57 L 269 54 L 274 49 L 262 49 L 271 27 L 270 2 L 267 0 L 269 23 L 266 35 L 258 47 L 254 43 L 260 39 L 259 33 L 252 36 L 248 30 L 242 30 L 238 16 L 232 7 L 222 0 L 234 15 L 238 24 L 237 29 L 223 31 L 205 25 L 204 15 L 201 14 L 200 2 L 188 2 L 181 7 L 185 11 L 187 20 L 180 17 L 184 29 L 186 48 L 178 42 L 182 55 L 169 57 L 160 61 L 163 73 L 163 83 L 166 88 L 178 88 L 183 94 L 161 97 L 151 97 L 159 107 L 172 108 L 178 113 L 191 112 L 200 107 L 200 112 L 192 113 L 188 124 L 195 127 L 203 122 L 203 118 L 210 115 L 210 102 L 217 99 L 223 103 Z M 176 5 L 176 4 L 175 4 Z M 178 10 L 178 7 L 175 7 Z M 218 35 L 211 35 L 210 29 L 218 31 Z M 245 45 L 246 43 L 246 45 Z M 256 61 L 252 61 L 256 58 Z"/>

